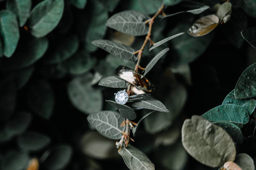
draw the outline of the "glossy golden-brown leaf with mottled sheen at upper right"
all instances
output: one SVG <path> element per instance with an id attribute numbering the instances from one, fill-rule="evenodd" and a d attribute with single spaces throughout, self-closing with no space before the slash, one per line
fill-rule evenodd
<path id="1" fill-rule="evenodd" d="M 219 23 L 219 18 L 216 15 L 207 15 L 198 19 L 187 31 L 194 37 L 203 36 L 213 31 Z"/>

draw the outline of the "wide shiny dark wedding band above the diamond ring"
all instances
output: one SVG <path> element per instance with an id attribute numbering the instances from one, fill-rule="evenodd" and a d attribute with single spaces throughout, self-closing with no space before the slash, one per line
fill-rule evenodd
<path id="1" fill-rule="evenodd" d="M 154 85 L 146 77 L 134 71 L 133 69 L 130 69 L 129 67 L 122 65 L 118 66 L 115 71 L 115 75 L 127 81 L 128 83 L 131 83 L 145 93 L 154 93 L 155 91 Z"/>

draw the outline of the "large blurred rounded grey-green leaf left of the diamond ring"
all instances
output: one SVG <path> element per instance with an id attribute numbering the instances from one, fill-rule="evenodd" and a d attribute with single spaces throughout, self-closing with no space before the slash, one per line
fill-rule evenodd
<path id="1" fill-rule="evenodd" d="M 91 87 L 88 75 L 74 78 L 67 87 L 69 100 L 79 111 L 85 114 L 99 112 L 103 105 L 103 96 L 99 89 Z"/>

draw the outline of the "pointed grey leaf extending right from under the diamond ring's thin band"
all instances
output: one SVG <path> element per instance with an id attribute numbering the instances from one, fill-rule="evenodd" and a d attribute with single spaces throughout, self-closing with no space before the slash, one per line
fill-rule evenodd
<path id="1" fill-rule="evenodd" d="M 165 105 L 157 99 L 143 99 L 143 100 L 129 102 L 126 104 L 132 107 L 140 107 L 140 108 L 151 109 L 151 110 L 160 111 L 160 112 L 169 112 L 169 110 L 166 109 Z"/>

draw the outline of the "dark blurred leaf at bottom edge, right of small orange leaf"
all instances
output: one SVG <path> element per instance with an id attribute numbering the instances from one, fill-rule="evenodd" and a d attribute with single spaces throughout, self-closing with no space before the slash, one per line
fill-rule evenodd
<path id="1" fill-rule="evenodd" d="M 59 170 L 66 167 L 72 158 L 73 150 L 69 145 L 55 146 L 47 150 L 43 156 L 47 155 L 46 160 L 42 163 L 43 167 L 51 170 Z"/>

